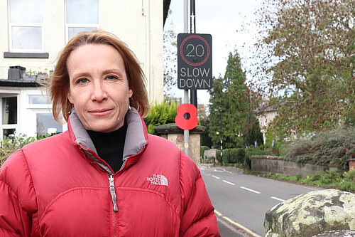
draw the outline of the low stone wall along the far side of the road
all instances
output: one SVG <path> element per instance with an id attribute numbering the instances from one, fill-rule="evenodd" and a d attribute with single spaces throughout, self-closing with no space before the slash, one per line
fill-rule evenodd
<path id="1" fill-rule="evenodd" d="M 327 167 L 314 164 L 299 164 L 285 161 L 275 156 L 253 156 L 251 157 L 251 170 L 259 172 L 271 172 L 286 174 L 288 176 L 298 176 L 305 178 L 307 175 L 322 173 Z"/>

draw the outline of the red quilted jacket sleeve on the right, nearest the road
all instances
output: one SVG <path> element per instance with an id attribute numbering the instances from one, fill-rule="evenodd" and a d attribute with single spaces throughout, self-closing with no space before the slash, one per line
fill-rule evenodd
<path id="1" fill-rule="evenodd" d="M 217 218 L 200 170 L 182 152 L 180 162 L 182 211 L 180 236 L 220 236 Z"/>

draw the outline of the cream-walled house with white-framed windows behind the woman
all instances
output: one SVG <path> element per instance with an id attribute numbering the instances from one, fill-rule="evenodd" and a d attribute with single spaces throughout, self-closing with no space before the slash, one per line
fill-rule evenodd
<path id="1" fill-rule="evenodd" d="M 0 138 L 65 131 L 38 80 L 65 43 L 102 28 L 126 42 L 147 77 L 148 98 L 163 100 L 163 1 L 0 1 Z"/>

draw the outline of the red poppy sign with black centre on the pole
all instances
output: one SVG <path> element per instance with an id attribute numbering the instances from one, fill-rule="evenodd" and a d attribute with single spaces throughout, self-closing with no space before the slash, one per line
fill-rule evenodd
<path id="1" fill-rule="evenodd" d="M 175 117 L 175 123 L 182 130 L 192 130 L 197 126 L 199 120 L 195 105 L 182 104 L 178 107 L 177 112 L 178 115 Z"/>

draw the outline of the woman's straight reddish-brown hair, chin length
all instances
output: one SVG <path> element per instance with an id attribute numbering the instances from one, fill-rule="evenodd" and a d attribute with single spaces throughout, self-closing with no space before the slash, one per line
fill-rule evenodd
<path id="1" fill-rule="evenodd" d="M 135 107 L 142 117 L 148 115 L 149 102 L 146 90 L 146 76 L 135 54 L 129 49 L 126 43 L 122 42 L 114 34 L 107 31 L 95 30 L 93 32 L 80 32 L 76 36 L 73 36 L 58 57 L 58 63 L 55 65 L 48 85 L 48 94 L 53 101 L 54 119 L 61 122 L 60 114 L 62 113 L 64 120 L 68 121 L 68 113 L 72 109 L 72 103 L 67 99 L 70 87 L 67 58 L 72 51 L 87 44 L 104 44 L 116 48 L 124 59 L 129 88 L 133 90 L 129 104 Z"/>

